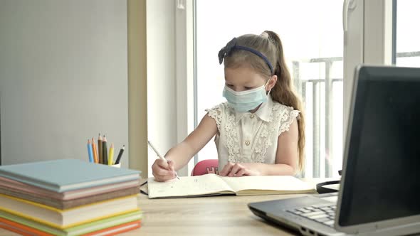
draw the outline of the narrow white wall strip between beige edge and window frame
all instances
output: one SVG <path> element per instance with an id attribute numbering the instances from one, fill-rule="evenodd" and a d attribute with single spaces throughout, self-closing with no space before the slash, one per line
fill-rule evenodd
<path id="1" fill-rule="evenodd" d="M 175 1 L 148 0 L 147 135 L 164 155 L 177 144 Z M 148 168 L 157 158 L 149 149 Z"/>

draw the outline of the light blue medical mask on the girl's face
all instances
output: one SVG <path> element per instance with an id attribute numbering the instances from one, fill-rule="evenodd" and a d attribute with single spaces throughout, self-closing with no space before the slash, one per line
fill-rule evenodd
<path id="1" fill-rule="evenodd" d="M 266 85 L 268 84 L 268 81 L 266 82 Z M 223 97 L 228 100 L 229 105 L 231 105 L 231 107 L 233 107 L 236 112 L 248 112 L 252 109 L 255 109 L 263 102 L 268 101 L 266 85 L 257 87 L 253 90 L 246 90 L 241 92 L 236 92 L 235 90 L 232 90 L 230 87 L 225 85 L 223 90 Z"/>

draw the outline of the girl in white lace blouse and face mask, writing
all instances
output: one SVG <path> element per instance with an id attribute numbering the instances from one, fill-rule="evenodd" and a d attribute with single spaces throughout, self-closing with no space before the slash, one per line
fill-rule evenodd
<path id="1" fill-rule="evenodd" d="M 221 103 L 196 129 L 152 165 L 156 181 L 176 177 L 179 168 L 214 136 L 221 176 L 293 175 L 303 168 L 302 106 L 293 92 L 278 35 L 233 38 L 219 51 L 225 87 Z"/>

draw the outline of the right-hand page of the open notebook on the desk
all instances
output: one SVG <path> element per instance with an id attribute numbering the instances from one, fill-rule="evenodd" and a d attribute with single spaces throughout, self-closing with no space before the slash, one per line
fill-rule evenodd
<path id="1" fill-rule="evenodd" d="M 293 176 L 241 176 L 219 178 L 223 179 L 235 192 L 256 190 L 315 193 L 315 186 L 313 186 L 313 184 L 305 183 Z"/>

